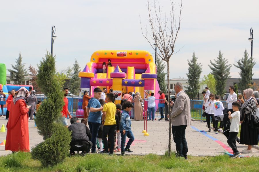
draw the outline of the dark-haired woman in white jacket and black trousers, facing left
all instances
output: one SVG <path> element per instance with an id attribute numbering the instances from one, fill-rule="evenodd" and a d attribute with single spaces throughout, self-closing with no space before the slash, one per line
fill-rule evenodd
<path id="1" fill-rule="evenodd" d="M 208 128 L 209 128 L 209 132 L 211 131 L 210 129 L 210 117 L 211 117 L 211 120 L 213 122 L 213 128 L 214 128 L 214 132 L 216 132 L 215 130 L 215 116 L 214 116 L 214 110 L 213 110 L 213 106 L 214 106 L 214 103 L 216 102 L 215 100 L 215 97 L 214 97 L 214 94 L 211 93 L 210 94 L 210 98 L 207 99 L 206 103 L 205 103 L 205 115 L 206 115 L 206 120 L 207 120 L 207 125 L 208 125 Z"/>

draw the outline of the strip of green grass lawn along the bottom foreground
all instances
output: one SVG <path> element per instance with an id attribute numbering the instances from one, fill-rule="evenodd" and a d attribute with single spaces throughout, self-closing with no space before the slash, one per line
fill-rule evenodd
<path id="1" fill-rule="evenodd" d="M 258 171 L 259 157 L 231 159 L 227 155 L 215 157 L 188 156 L 176 158 L 174 154 L 160 156 L 148 154 L 113 155 L 88 154 L 85 157 L 75 155 L 67 157 L 65 162 L 54 167 L 42 167 L 39 161 L 31 159 L 30 153 L 14 153 L 0 157 L 0 171 Z"/>

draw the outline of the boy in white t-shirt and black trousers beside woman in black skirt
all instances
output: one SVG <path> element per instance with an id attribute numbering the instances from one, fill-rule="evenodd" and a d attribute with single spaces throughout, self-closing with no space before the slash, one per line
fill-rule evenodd
<path id="1" fill-rule="evenodd" d="M 231 158 L 236 158 L 241 153 L 237 150 L 236 140 L 237 140 L 237 134 L 239 132 L 239 120 L 240 120 L 240 112 L 239 112 L 240 102 L 234 101 L 232 103 L 232 109 L 233 114 L 231 112 L 228 112 L 228 118 L 230 119 L 230 130 L 229 130 L 229 136 L 228 136 L 228 145 L 233 150 L 233 155 L 230 155 Z"/>

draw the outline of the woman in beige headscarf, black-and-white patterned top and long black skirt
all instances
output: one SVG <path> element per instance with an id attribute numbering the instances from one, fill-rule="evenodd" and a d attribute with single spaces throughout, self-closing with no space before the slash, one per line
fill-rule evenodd
<path id="1" fill-rule="evenodd" d="M 241 132 L 240 132 L 240 143 L 239 144 L 247 144 L 247 149 L 242 150 L 242 153 L 253 153 L 252 145 L 258 144 L 258 136 L 256 128 L 252 128 L 249 124 L 252 122 L 249 120 L 250 113 L 255 114 L 256 107 L 258 107 L 258 103 L 252 95 L 254 94 L 254 90 L 248 88 L 243 91 L 243 95 L 246 99 L 245 103 L 243 103 L 242 107 L 245 107 L 245 116 L 241 120 Z M 251 118 L 250 118 L 251 119 Z"/>

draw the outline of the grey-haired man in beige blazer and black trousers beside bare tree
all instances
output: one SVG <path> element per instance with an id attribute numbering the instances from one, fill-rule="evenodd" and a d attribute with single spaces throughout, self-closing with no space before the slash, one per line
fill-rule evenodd
<path id="1" fill-rule="evenodd" d="M 185 139 L 185 129 L 191 125 L 190 98 L 182 90 L 182 83 L 176 83 L 174 90 L 177 94 L 176 100 L 171 101 L 171 121 L 173 139 L 176 144 L 177 156 L 187 159 L 188 146 Z"/>

